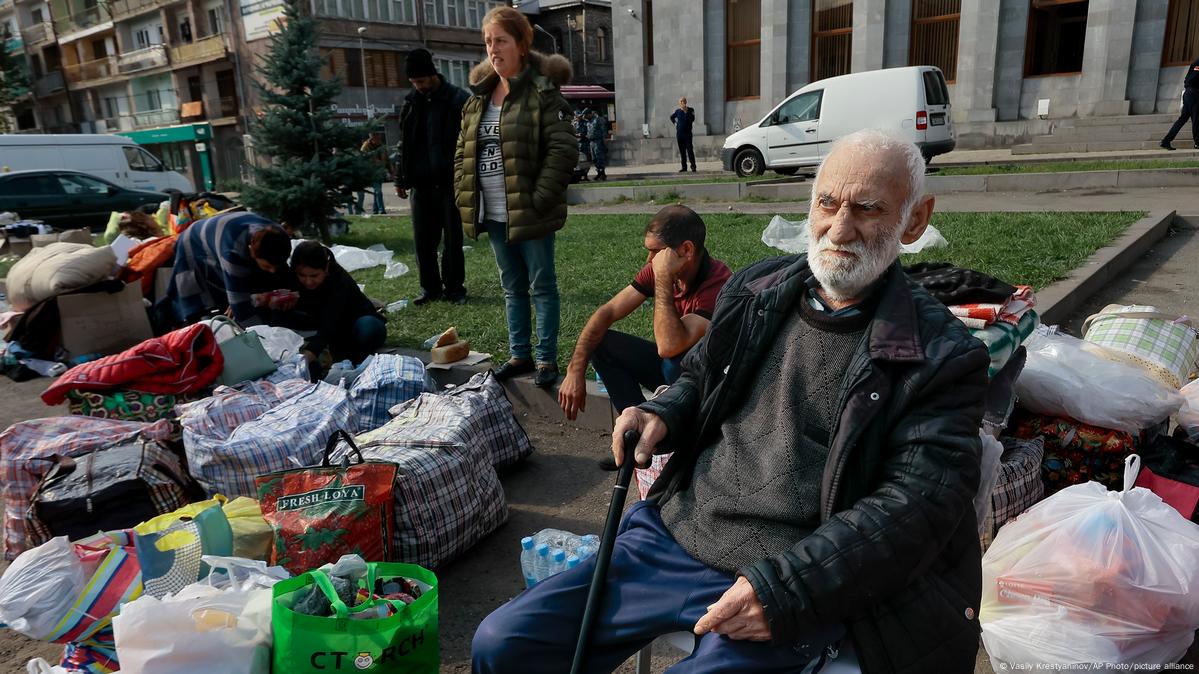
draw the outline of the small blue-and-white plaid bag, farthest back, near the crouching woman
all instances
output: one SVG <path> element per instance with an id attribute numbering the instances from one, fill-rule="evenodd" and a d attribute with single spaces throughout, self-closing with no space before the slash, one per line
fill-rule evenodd
<path id="1" fill-rule="evenodd" d="M 376 354 L 350 386 L 350 403 L 357 416 L 357 428 L 374 431 L 391 421 L 391 415 L 387 414 L 391 408 L 436 390 L 436 384 L 424 372 L 424 363 L 420 359 Z"/>

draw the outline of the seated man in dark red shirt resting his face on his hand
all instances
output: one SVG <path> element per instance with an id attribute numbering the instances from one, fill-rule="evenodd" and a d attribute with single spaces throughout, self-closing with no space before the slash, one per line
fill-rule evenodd
<path id="1" fill-rule="evenodd" d="M 645 266 L 631 284 L 596 309 L 579 335 L 558 402 L 574 420 L 586 404 L 588 362 L 608 387 L 620 413 L 645 402 L 650 391 L 674 383 L 679 361 L 707 332 L 716 296 L 731 272 L 707 254 L 704 221 L 687 206 L 665 206 L 645 227 Z M 609 330 L 653 297 L 653 342 Z M 611 457 L 601 462 L 615 470 Z"/>

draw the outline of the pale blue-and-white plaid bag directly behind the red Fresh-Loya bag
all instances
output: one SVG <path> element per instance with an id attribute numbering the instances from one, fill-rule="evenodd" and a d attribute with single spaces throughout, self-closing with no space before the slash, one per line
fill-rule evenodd
<path id="1" fill-rule="evenodd" d="M 338 428 L 355 428 L 344 389 L 289 380 L 217 389 L 216 401 L 181 405 L 192 476 L 209 494 L 254 497 L 259 475 L 320 459 Z M 212 401 L 212 402 L 210 402 Z"/>

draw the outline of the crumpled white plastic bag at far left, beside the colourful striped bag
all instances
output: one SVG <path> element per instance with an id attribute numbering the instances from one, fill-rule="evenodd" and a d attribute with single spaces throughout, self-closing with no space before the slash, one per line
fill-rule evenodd
<path id="1" fill-rule="evenodd" d="M 79 598 L 88 579 L 66 536 L 20 553 L 0 578 L 0 622 L 44 639 Z"/>

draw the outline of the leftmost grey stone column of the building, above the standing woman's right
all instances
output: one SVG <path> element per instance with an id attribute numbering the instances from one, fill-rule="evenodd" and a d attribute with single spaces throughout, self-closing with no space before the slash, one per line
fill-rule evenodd
<path id="1" fill-rule="evenodd" d="M 641 138 L 645 119 L 645 4 L 615 0 L 611 4 L 613 82 L 616 100 L 616 137 L 627 142 Z M 632 10 L 632 13 L 629 12 Z"/>

